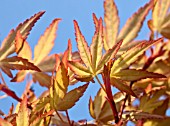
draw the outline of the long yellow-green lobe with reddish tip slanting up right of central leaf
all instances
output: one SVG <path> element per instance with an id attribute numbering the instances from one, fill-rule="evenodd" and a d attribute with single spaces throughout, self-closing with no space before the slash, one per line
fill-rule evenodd
<path id="1" fill-rule="evenodd" d="M 133 62 L 135 62 L 139 56 L 141 56 L 147 49 L 149 49 L 154 44 L 161 42 L 163 38 L 159 38 L 153 41 L 143 41 L 136 46 L 132 47 L 124 54 L 122 54 L 116 61 L 114 62 L 111 68 L 111 75 L 119 72 L 122 69 L 128 68 Z"/>

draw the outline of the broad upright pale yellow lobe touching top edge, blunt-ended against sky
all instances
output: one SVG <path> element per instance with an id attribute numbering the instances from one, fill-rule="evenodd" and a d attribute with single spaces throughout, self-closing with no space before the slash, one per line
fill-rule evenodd
<path id="1" fill-rule="evenodd" d="M 104 2 L 104 21 L 106 24 L 104 43 L 105 50 L 112 48 L 116 44 L 117 34 L 119 30 L 120 19 L 118 10 L 113 0 L 105 0 Z"/>

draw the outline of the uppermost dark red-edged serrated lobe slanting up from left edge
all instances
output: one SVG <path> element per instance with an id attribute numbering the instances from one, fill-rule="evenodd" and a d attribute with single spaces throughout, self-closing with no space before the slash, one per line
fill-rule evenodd
<path id="1" fill-rule="evenodd" d="M 17 32 L 20 31 L 22 37 L 26 39 L 34 24 L 44 13 L 44 11 L 41 11 L 35 14 L 30 19 L 27 19 L 23 23 L 19 24 L 15 30 L 13 29 L 10 31 L 9 35 L 2 42 L 0 49 L 0 60 L 15 52 L 14 41 Z"/>

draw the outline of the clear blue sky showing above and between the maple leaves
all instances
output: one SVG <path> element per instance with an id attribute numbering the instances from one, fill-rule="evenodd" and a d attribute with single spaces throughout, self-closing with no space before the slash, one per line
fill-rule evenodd
<path id="1" fill-rule="evenodd" d="M 120 27 L 122 27 L 129 16 L 131 16 L 139 7 L 143 6 L 148 0 L 115 0 L 120 16 Z M 97 17 L 104 16 L 103 0 L 3 0 L 0 2 L 0 42 L 8 35 L 12 28 L 23 22 L 25 19 L 34 15 L 39 11 L 46 11 L 43 17 L 36 23 L 28 37 L 28 42 L 34 49 L 41 34 L 55 18 L 61 18 L 57 31 L 57 38 L 55 47 L 52 53 L 63 52 L 67 47 L 67 41 L 70 38 L 73 45 L 73 51 L 76 49 L 76 42 L 74 36 L 73 20 L 77 20 L 82 33 L 84 34 L 87 42 L 91 43 L 94 34 L 94 25 L 92 20 L 92 13 Z M 149 19 L 149 17 L 147 17 Z M 149 30 L 147 29 L 146 22 L 140 32 L 138 39 L 147 39 Z M 24 89 L 24 84 L 10 83 L 9 78 L 3 75 L 6 79 L 7 85 L 14 90 L 17 95 L 21 95 Z M 75 107 L 69 110 L 71 119 L 91 120 L 88 114 L 88 100 L 90 96 L 94 96 L 98 90 L 98 84 L 90 84 L 87 92 L 83 98 L 77 103 Z M 34 85 L 36 94 L 44 89 L 41 89 L 38 84 Z M 0 92 L 0 95 L 3 93 Z M 11 103 L 15 103 L 12 98 L 4 98 L 0 100 L 0 109 L 7 112 Z"/>

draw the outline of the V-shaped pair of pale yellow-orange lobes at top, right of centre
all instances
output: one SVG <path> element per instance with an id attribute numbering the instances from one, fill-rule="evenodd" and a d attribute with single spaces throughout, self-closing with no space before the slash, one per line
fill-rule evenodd
<path id="1" fill-rule="evenodd" d="M 113 0 L 105 0 L 104 2 L 104 20 L 105 20 L 105 34 L 104 34 L 104 49 L 108 50 L 117 42 L 123 39 L 122 47 L 126 47 L 127 43 L 137 37 L 142 24 L 153 8 L 154 2 L 150 0 L 144 7 L 141 7 L 137 12 L 135 12 L 125 23 L 123 28 L 119 31 L 119 16 L 116 4 Z M 134 27 L 135 26 L 135 27 Z M 125 46 L 126 45 L 126 46 Z"/>

